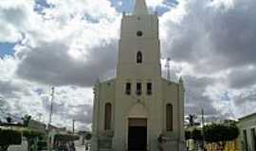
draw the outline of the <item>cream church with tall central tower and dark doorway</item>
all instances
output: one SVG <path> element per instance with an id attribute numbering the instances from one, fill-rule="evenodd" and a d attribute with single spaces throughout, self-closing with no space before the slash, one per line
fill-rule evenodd
<path id="1" fill-rule="evenodd" d="M 94 88 L 92 151 L 179 151 L 184 142 L 183 80 L 161 76 L 158 18 L 137 0 L 123 13 L 117 77 Z"/>

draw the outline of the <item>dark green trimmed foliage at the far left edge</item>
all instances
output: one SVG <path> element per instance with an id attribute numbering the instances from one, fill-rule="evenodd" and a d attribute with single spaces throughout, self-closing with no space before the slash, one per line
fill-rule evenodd
<path id="1" fill-rule="evenodd" d="M 22 134 L 17 129 L 1 129 L 0 128 L 0 145 L 21 144 Z"/>

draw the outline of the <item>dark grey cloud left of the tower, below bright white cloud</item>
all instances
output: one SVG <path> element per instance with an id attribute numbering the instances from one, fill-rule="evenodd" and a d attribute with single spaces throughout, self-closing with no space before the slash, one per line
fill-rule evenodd
<path id="1" fill-rule="evenodd" d="M 17 74 L 42 83 L 91 87 L 99 76 L 115 66 L 116 48 L 116 42 L 105 43 L 88 50 L 87 59 L 80 60 L 68 55 L 68 45 L 46 43 L 27 54 Z"/>

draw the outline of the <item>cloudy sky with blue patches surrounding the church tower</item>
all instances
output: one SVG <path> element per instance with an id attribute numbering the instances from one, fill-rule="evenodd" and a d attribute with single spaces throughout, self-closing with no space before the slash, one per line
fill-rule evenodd
<path id="1" fill-rule="evenodd" d="M 185 112 L 256 112 L 255 0 L 147 0 L 159 18 L 162 76 L 184 78 Z M 115 76 L 122 11 L 135 0 L 1 0 L 0 109 L 89 130 L 93 84 Z"/>

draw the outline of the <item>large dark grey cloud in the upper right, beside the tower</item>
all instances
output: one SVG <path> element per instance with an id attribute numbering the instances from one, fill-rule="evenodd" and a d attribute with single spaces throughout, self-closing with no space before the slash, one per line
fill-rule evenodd
<path id="1" fill-rule="evenodd" d="M 172 19 L 175 9 L 163 15 L 162 24 L 171 25 L 167 29 L 169 37 L 164 40 L 164 54 L 189 61 L 198 72 L 255 63 L 255 3 L 233 1 L 232 8 L 220 8 L 213 2 L 180 2 L 184 7 L 179 9 L 185 11 L 180 22 Z"/>

